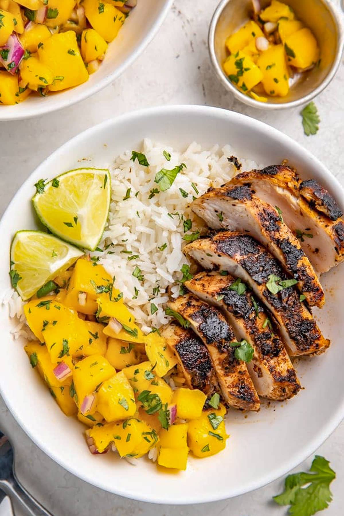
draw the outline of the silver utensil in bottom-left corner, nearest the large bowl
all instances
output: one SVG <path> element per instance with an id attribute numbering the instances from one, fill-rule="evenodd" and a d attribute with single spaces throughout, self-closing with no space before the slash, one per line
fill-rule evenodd
<path id="1" fill-rule="evenodd" d="M 17 502 L 29 516 L 52 516 L 20 485 L 14 472 L 13 448 L 0 432 L 0 489 Z"/>

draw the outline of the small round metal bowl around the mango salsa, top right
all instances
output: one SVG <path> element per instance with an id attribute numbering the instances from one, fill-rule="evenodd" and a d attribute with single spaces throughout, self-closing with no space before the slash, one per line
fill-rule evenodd
<path id="1" fill-rule="evenodd" d="M 262 9 L 270 0 L 261 0 Z M 225 75 L 222 64 L 227 57 L 225 40 L 247 22 L 252 14 L 251 0 L 222 0 L 218 5 L 209 27 L 209 54 L 215 72 L 227 90 L 249 106 L 260 109 L 284 109 L 295 107 L 312 100 L 333 79 L 344 47 L 342 15 L 330 0 L 287 0 L 296 17 L 309 27 L 320 47 L 320 63 L 312 70 L 300 74 L 285 97 L 269 97 L 259 102 L 239 91 Z"/>

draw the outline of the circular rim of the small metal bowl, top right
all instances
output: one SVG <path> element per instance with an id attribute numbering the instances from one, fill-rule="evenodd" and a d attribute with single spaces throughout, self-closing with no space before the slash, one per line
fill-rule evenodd
<path id="1" fill-rule="evenodd" d="M 252 99 L 250 96 L 245 95 L 241 91 L 239 91 L 224 75 L 223 70 L 221 68 L 221 65 L 217 59 L 216 52 L 215 52 L 215 29 L 217 27 L 219 18 L 222 14 L 222 11 L 226 7 L 227 4 L 231 2 L 231 0 L 221 0 L 217 8 L 215 9 L 214 14 L 212 15 L 211 22 L 209 25 L 209 31 L 208 31 L 208 49 L 209 49 L 209 55 L 210 55 L 210 61 L 212 64 L 212 67 L 217 73 L 218 78 L 220 79 L 221 83 L 224 85 L 224 87 L 227 90 L 232 91 L 235 98 L 243 102 L 244 104 L 247 104 L 251 107 L 255 107 L 258 109 L 286 109 L 291 107 L 297 107 L 302 104 L 305 104 L 307 102 L 310 102 L 312 99 L 314 99 L 321 91 L 323 91 L 331 82 L 331 80 L 334 78 L 339 65 L 341 61 L 341 55 L 344 50 L 344 23 L 342 20 L 342 15 L 337 9 L 337 7 L 331 2 L 331 0 L 321 0 L 323 4 L 329 9 L 329 11 L 332 14 L 332 18 L 337 26 L 338 30 L 338 49 L 336 57 L 333 61 L 332 67 L 329 71 L 329 73 L 326 75 L 326 77 L 323 79 L 322 83 L 319 84 L 319 86 L 308 93 L 308 95 L 303 96 L 301 99 L 290 101 L 290 102 L 283 102 L 280 104 L 272 104 L 269 102 L 259 102 L 255 99 Z"/>

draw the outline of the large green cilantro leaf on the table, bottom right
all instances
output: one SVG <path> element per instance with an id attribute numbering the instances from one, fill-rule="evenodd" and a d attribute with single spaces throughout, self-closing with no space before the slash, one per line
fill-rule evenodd
<path id="1" fill-rule="evenodd" d="M 291 516 L 312 516 L 332 502 L 330 483 L 336 478 L 329 461 L 316 455 L 310 473 L 294 473 L 285 479 L 283 493 L 274 496 L 279 505 L 290 505 Z M 302 488 L 309 484 L 306 488 Z"/>

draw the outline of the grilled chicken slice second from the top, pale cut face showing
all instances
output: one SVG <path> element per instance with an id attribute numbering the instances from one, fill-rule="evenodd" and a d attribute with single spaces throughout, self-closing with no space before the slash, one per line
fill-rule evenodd
<path id="1" fill-rule="evenodd" d="M 195 199 L 191 208 L 210 228 L 231 229 L 256 238 L 298 281 L 309 305 L 321 307 L 324 304 L 323 289 L 299 240 L 282 222 L 277 210 L 254 196 L 249 187 L 210 189 Z"/>

